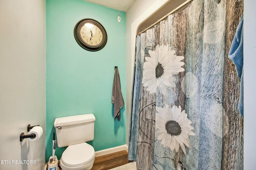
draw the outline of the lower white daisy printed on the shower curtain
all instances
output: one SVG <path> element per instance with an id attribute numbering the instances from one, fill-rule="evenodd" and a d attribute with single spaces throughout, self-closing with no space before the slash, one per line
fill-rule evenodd
<path id="1" fill-rule="evenodd" d="M 178 152 L 179 146 L 186 154 L 184 144 L 191 149 L 190 139 L 188 137 L 194 134 L 194 129 L 185 110 L 181 111 L 181 107 L 168 105 L 164 108 L 156 107 L 156 138 L 161 140 L 164 147 Z"/>

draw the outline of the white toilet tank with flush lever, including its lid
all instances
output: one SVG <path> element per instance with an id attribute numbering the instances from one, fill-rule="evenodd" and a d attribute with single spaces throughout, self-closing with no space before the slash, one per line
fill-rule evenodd
<path id="1" fill-rule="evenodd" d="M 93 114 L 56 118 L 54 127 L 58 147 L 92 141 L 94 139 L 94 121 Z"/>

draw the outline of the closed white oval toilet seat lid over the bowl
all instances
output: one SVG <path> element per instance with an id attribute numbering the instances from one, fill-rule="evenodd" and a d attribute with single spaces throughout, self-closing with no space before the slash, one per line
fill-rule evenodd
<path id="1" fill-rule="evenodd" d="M 94 148 L 88 143 L 70 145 L 62 153 L 62 163 L 67 166 L 80 166 L 87 164 L 95 157 Z"/>

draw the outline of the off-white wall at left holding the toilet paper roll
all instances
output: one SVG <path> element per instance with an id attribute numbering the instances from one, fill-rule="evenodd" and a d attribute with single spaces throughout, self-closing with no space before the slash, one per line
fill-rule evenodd
<path id="1" fill-rule="evenodd" d="M 1 170 L 42 170 L 45 165 L 45 3 L 0 0 Z M 43 127 L 38 141 L 20 142 L 20 133 L 27 133 L 28 124 Z M 35 164 L 26 164 L 26 160 Z"/>

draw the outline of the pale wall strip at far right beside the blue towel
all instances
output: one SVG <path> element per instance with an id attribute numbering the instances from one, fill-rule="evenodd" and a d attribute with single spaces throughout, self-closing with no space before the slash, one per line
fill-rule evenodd
<path id="1" fill-rule="evenodd" d="M 255 8 L 255 0 L 244 0 L 244 170 L 256 168 Z"/>

